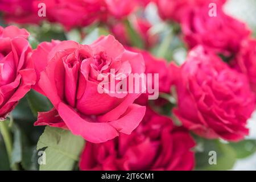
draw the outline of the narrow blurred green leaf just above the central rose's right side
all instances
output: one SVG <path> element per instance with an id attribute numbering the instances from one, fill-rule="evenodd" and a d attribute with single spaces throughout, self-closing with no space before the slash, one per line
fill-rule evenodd
<path id="1" fill-rule="evenodd" d="M 141 36 L 138 34 L 137 31 L 134 30 L 134 27 L 131 26 L 131 23 L 129 22 L 129 20 L 125 20 L 125 27 L 127 30 L 127 33 L 129 35 L 130 41 L 131 41 L 131 45 L 134 47 L 138 47 L 143 49 L 144 48 L 144 41 L 142 40 Z"/>

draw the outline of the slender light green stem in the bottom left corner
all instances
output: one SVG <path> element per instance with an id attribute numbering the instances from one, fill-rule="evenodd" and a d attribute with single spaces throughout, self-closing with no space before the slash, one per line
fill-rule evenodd
<path id="1" fill-rule="evenodd" d="M 18 165 L 16 163 L 11 165 L 11 152 L 13 151 L 13 142 L 7 121 L 0 121 L 0 133 L 2 134 L 3 141 L 5 142 L 5 147 L 9 157 L 10 166 L 13 170 L 17 171 L 19 169 Z"/>

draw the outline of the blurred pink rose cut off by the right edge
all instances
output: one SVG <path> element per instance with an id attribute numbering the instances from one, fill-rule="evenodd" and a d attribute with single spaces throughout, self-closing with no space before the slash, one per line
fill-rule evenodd
<path id="1" fill-rule="evenodd" d="M 256 93 L 256 40 L 245 40 L 236 58 L 231 62 L 237 71 L 247 76 L 251 89 Z"/>

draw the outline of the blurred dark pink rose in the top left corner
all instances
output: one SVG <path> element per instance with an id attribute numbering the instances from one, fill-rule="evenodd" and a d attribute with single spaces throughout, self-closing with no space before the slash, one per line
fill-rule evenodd
<path id="1" fill-rule="evenodd" d="M 1 0 L 0 10 L 7 23 L 39 23 L 42 19 L 34 11 L 33 2 L 34 0 Z"/>

